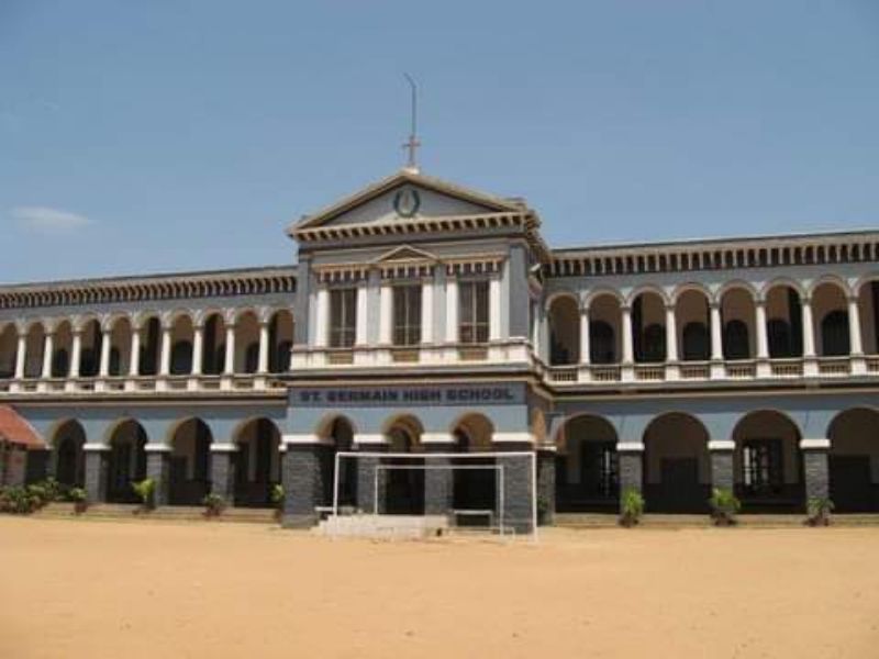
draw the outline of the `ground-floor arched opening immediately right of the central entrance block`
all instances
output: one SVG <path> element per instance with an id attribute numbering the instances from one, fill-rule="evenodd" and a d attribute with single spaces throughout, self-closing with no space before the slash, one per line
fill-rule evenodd
<path id="1" fill-rule="evenodd" d="M 615 512 L 620 498 L 616 431 L 601 416 L 565 422 L 556 458 L 556 510 Z"/>

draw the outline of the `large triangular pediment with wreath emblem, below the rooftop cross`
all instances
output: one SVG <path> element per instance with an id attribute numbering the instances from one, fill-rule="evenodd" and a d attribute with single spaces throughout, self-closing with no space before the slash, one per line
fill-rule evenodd
<path id="1" fill-rule="evenodd" d="M 408 220 L 432 220 L 522 212 L 518 200 L 502 199 L 411 170 L 401 170 L 364 188 L 289 228 L 291 235 L 313 228 Z"/>

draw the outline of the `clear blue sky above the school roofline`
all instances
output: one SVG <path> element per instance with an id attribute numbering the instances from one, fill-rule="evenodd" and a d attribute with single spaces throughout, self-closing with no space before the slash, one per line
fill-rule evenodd
<path id="1" fill-rule="evenodd" d="M 0 0 L 0 281 L 291 263 L 403 164 L 554 246 L 869 228 L 875 0 Z"/>

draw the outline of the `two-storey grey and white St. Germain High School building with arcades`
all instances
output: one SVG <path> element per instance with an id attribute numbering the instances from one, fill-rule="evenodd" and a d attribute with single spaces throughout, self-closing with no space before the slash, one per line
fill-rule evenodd
<path id="1" fill-rule="evenodd" d="M 0 287 L 26 477 L 127 501 L 149 474 L 163 505 L 280 482 L 305 525 L 336 451 L 528 451 L 546 520 L 626 487 L 879 510 L 879 232 L 552 248 L 524 200 L 404 169 L 288 234 L 290 266 Z M 494 459 L 526 526 L 527 460 Z M 344 503 L 374 507 L 378 460 Z M 390 470 L 379 506 L 493 505 L 491 473 Z"/>

